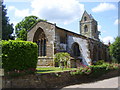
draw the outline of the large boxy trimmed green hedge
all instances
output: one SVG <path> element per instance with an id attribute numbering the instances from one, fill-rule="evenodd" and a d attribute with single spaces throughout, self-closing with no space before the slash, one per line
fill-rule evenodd
<path id="1" fill-rule="evenodd" d="M 37 48 L 37 44 L 33 42 L 2 41 L 2 67 L 4 71 L 35 69 L 38 60 Z"/>

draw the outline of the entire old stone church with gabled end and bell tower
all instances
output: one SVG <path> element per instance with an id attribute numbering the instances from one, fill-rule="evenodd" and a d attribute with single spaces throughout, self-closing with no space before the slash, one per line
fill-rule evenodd
<path id="1" fill-rule="evenodd" d="M 38 65 L 54 66 L 55 53 L 68 52 L 71 67 L 76 67 L 79 63 L 91 65 L 97 60 L 110 60 L 108 46 L 100 41 L 99 34 L 97 21 L 85 11 L 80 34 L 39 21 L 28 31 L 27 41 L 38 44 Z"/>

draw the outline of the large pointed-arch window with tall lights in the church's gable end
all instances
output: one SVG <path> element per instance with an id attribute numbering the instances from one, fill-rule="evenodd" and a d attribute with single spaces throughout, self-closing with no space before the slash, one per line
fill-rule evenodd
<path id="1" fill-rule="evenodd" d="M 46 36 L 41 28 L 35 32 L 33 42 L 38 45 L 38 56 L 46 56 Z"/>

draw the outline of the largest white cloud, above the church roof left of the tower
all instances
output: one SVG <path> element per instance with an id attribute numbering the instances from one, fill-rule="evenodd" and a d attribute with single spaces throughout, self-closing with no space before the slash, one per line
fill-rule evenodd
<path id="1" fill-rule="evenodd" d="M 68 24 L 81 17 L 84 5 L 77 0 L 33 0 L 32 14 L 52 22 Z"/>

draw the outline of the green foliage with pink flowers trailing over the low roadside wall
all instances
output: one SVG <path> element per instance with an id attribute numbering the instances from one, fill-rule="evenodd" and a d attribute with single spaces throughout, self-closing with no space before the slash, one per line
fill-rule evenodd
<path id="1" fill-rule="evenodd" d="M 109 71 L 119 70 L 119 64 L 103 63 L 102 65 L 91 65 L 77 70 L 72 70 L 71 75 L 89 75 L 89 77 L 99 77 Z"/>

